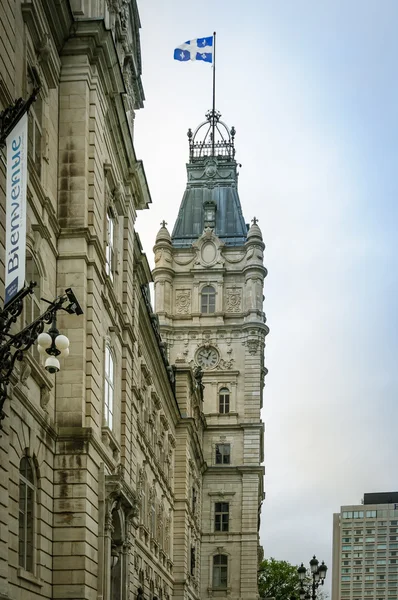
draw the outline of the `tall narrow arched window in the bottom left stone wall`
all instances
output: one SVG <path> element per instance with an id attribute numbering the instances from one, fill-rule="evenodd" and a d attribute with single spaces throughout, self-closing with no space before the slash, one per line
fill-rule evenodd
<path id="1" fill-rule="evenodd" d="M 19 566 L 33 572 L 35 478 L 28 457 L 19 464 Z"/>

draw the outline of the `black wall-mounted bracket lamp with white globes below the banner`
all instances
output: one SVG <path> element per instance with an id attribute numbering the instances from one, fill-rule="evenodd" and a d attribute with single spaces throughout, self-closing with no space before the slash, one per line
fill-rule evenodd
<path id="1" fill-rule="evenodd" d="M 49 305 L 37 319 L 27 325 L 19 333 L 12 335 L 10 332 L 13 323 L 22 313 L 23 299 L 28 294 L 33 294 L 36 282 L 22 290 L 7 307 L 0 310 L 0 429 L 4 419 L 3 406 L 7 398 L 7 386 L 10 383 L 15 362 L 21 361 L 24 353 L 38 341 L 38 350 L 42 356 L 47 356 L 45 369 L 49 373 L 57 373 L 60 369 L 58 356 L 66 358 L 69 354 L 69 340 L 66 335 L 60 335 L 57 329 L 57 312 L 64 310 L 70 315 L 82 315 L 83 311 L 71 288 L 58 296 L 52 302 L 42 298 Z M 50 324 L 48 332 L 44 332 L 44 325 Z"/>

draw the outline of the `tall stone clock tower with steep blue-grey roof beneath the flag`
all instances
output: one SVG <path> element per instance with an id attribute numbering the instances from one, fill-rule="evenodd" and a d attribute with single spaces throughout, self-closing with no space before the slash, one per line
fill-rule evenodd
<path id="1" fill-rule="evenodd" d="M 204 385 L 199 595 L 254 600 L 267 271 L 257 220 L 249 228 L 242 214 L 235 129 L 220 116 L 188 131 L 186 191 L 172 235 L 163 223 L 154 247 L 155 309 L 170 362 L 189 363 Z"/>

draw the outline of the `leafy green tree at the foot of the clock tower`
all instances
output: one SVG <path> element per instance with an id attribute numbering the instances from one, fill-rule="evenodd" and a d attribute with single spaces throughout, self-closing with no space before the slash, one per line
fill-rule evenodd
<path id="1" fill-rule="evenodd" d="M 265 559 L 258 570 L 258 591 L 260 597 L 274 600 L 290 600 L 298 598 L 300 580 L 297 567 L 286 560 Z"/>

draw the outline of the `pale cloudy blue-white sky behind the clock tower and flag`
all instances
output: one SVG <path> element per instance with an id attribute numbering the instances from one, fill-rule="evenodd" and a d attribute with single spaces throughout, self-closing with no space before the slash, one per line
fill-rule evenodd
<path id="1" fill-rule="evenodd" d="M 217 31 L 217 108 L 269 270 L 266 556 L 331 566 L 332 514 L 397 481 L 398 2 L 139 0 L 145 109 L 135 145 L 151 263 L 186 184 L 211 67 L 173 50 Z M 329 574 L 329 580 L 331 573 Z"/>

